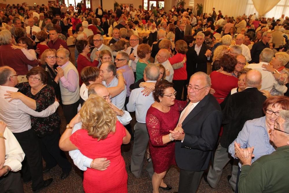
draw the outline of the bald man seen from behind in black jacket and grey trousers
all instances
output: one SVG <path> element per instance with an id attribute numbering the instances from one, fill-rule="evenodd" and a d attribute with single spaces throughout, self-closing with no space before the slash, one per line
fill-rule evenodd
<path id="1" fill-rule="evenodd" d="M 212 188 L 216 188 L 221 179 L 223 168 L 232 159 L 228 153 L 228 147 L 236 139 L 244 123 L 264 116 L 262 107 L 266 96 L 257 89 L 261 85 L 261 81 L 261 73 L 257 70 L 250 70 L 246 74 L 245 90 L 231 95 L 226 103 L 222 118 L 223 135 L 215 152 L 214 164 L 210 166 L 208 176 L 204 176 L 205 181 Z M 233 190 L 236 188 L 239 161 L 238 159 L 235 160 L 237 162 L 233 165 L 232 176 L 230 179 L 228 178 Z"/>

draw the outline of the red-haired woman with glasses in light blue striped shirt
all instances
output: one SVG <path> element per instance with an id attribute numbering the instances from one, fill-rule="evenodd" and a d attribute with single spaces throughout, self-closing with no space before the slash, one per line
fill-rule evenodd
<path id="1" fill-rule="evenodd" d="M 279 112 L 281 110 L 289 110 L 288 97 L 272 96 L 267 98 L 263 104 L 263 112 L 265 116 L 245 122 L 244 127 L 238 134 L 237 138 L 230 144 L 228 150 L 232 157 L 238 159 L 235 154 L 235 142 L 238 144 L 238 146 L 240 146 L 240 148 L 243 149 L 254 147 L 254 158 L 252 159 L 252 163 L 259 157 L 274 152 L 275 148 L 272 146 L 269 139 L 271 131 L 270 126 L 274 125 L 275 120 L 279 117 Z M 242 162 L 239 162 L 239 167 L 241 168 L 241 166 Z M 240 168 L 238 171 L 238 176 L 241 172 Z M 238 181 L 236 184 L 236 190 L 237 189 Z"/>

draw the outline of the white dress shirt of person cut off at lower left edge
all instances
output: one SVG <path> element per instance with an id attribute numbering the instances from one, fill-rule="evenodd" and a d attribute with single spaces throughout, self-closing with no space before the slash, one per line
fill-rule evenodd
<path id="1" fill-rule="evenodd" d="M 18 143 L 13 133 L 6 127 L 3 133 L 5 141 L 5 163 L 4 166 L 9 166 L 12 172 L 21 170 L 25 154 Z M 0 139 L 2 140 L 2 139 Z"/>

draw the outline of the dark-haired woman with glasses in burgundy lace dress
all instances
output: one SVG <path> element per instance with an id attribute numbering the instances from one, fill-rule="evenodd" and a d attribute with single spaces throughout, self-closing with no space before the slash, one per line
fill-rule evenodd
<path id="1" fill-rule="evenodd" d="M 175 161 L 175 141 L 170 130 L 183 132 L 177 127 L 179 111 L 184 109 L 187 102 L 175 100 L 176 91 L 173 83 L 160 80 L 155 84 L 153 97 L 155 102 L 147 111 L 146 123 L 149 133 L 149 151 L 153 162 L 154 174 L 152 177 L 153 193 L 158 189 L 171 190 L 172 187 L 164 183 L 164 176 Z"/>

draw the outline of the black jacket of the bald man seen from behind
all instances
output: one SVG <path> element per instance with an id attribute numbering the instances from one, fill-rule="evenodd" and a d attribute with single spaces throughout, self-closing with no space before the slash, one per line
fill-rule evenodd
<path id="1" fill-rule="evenodd" d="M 229 97 L 223 110 L 220 141 L 223 148 L 228 148 L 237 138 L 246 121 L 264 116 L 262 107 L 265 100 L 266 97 L 257 88 L 247 88 Z"/>

